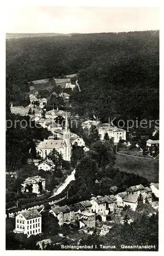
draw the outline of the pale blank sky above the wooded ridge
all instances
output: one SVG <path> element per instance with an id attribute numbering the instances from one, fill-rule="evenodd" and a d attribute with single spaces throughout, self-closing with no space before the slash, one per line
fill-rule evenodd
<path id="1" fill-rule="evenodd" d="M 159 29 L 158 8 L 7 7 L 6 33 L 100 33 Z"/>

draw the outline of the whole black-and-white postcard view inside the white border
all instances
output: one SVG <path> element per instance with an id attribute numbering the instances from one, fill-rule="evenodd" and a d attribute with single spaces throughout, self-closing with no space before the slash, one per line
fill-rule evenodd
<path id="1" fill-rule="evenodd" d="M 6 6 L 6 250 L 158 251 L 159 8 L 55 2 Z"/>

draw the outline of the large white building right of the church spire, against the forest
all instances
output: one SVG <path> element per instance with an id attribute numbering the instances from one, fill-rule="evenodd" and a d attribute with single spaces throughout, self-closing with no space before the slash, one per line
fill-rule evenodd
<path id="1" fill-rule="evenodd" d="M 112 126 L 109 123 L 102 123 L 99 125 L 98 132 L 101 140 L 104 139 L 106 133 L 110 139 L 113 138 L 114 143 L 118 143 L 120 140 L 126 140 L 126 131 L 116 126 Z"/>

